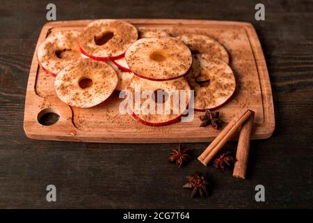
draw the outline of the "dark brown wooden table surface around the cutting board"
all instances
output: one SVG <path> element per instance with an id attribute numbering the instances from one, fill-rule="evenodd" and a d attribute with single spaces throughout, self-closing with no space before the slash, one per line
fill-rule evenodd
<path id="1" fill-rule="evenodd" d="M 312 1 L 53 1 L 57 20 L 173 18 L 251 22 L 262 43 L 275 103 L 273 137 L 252 141 L 247 180 L 194 159 L 166 162 L 177 144 L 91 144 L 28 139 L 24 100 L 48 1 L 0 3 L 0 208 L 312 208 Z M 265 21 L 255 20 L 264 3 Z M 185 144 L 200 155 L 207 144 Z M 226 149 L 235 151 L 236 142 Z M 184 176 L 214 180 L 190 199 Z M 56 185 L 57 202 L 46 201 Z M 265 202 L 255 201 L 264 185 Z"/>

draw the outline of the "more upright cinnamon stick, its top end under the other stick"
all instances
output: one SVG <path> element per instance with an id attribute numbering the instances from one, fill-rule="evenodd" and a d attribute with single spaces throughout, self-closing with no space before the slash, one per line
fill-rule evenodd
<path id="1" fill-rule="evenodd" d="M 246 171 L 248 167 L 248 157 L 250 151 L 250 139 L 252 132 L 253 120 L 255 112 L 252 112 L 248 120 L 243 123 L 239 134 L 239 141 L 236 152 L 236 162 L 234 164 L 234 171 L 232 176 L 236 178 L 246 178 Z"/>

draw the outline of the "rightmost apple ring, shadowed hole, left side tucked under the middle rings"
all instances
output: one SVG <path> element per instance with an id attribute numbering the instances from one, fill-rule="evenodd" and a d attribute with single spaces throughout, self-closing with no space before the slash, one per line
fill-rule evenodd
<path id="1" fill-rule="evenodd" d="M 236 80 L 232 68 L 220 59 L 205 54 L 193 57 L 193 67 L 186 76 L 191 89 L 195 91 L 195 111 L 217 109 L 232 97 Z"/>

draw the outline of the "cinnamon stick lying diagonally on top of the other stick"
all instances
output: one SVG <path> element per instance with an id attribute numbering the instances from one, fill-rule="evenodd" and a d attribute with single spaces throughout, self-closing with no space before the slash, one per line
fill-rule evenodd
<path id="1" fill-rule="evenodd" d="M 225 146 L 236 130 L 249 118 L 251 111 L 248 108 L 241 109 L 241 111 L 232 118 L 230 123 L 218 134 L 218 136 L 211 142 L 211 144 L 205 149 L 205 151 L 198 157 L 198 160 L 207 166 L 207 164 L 217 155 L 220 149 Z"/>

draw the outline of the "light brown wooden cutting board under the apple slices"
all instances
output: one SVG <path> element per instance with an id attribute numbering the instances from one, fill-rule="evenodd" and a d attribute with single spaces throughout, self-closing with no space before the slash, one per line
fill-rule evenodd
<path id="1" fill-rule="evenodd" d="M 230 66 L 236 78 L 232 100 L 220 107 L 220 119 L 229 122 L 242 107 L 255 111 L 252 139 L 271 137 L 275 128 L 273 96 L 266 62 L 252 24 L 209 20 L 125 20 L 137 27 L 150 27 L 178 36 L 198 33 L 216 38 L 230 54 Z M 81 31 L 92 20 L 49 22 L 42 27 L 38 45 L 49 33 L 61 30 Z M 122 99 L 113 93 L 109 100 L 89 109 L 65 105 L 54 93 L 54 77 L 38 66 L 36 52 L 31 63 L 26 91 L 24 130 L 31 139 L 61 141 L 97 141 L 110 143 L 168 143 L 212 141 L 219 130 L 200 128 L 198 116 L 189 123 L 150 127 L 129 115 L 121 115 Z M 40 117 L 53 112 L 60 116 L 53 125 L 41 125 Z M 236 139 L 235 136 L 234 139 Z"/>

